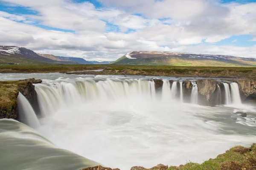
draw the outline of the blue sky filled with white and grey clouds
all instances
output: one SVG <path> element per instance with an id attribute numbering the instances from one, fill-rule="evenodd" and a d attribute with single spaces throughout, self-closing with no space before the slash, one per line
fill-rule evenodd
<path id="1" fill-rule="evenodd" d="M 98 61 L 130 51 L 256 58 L 256 0 L 0 0 L 0 45 Z"/>

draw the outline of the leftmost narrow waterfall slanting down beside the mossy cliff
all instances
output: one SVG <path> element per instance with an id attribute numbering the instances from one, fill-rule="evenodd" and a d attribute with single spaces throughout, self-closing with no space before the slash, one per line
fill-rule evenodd
<path id="1" fill-rule="evenodd" d="M 20 121 L 30 127 L 39 127 L 38 118 L 26 97 L 19 93 L 17 101 Z"/>

